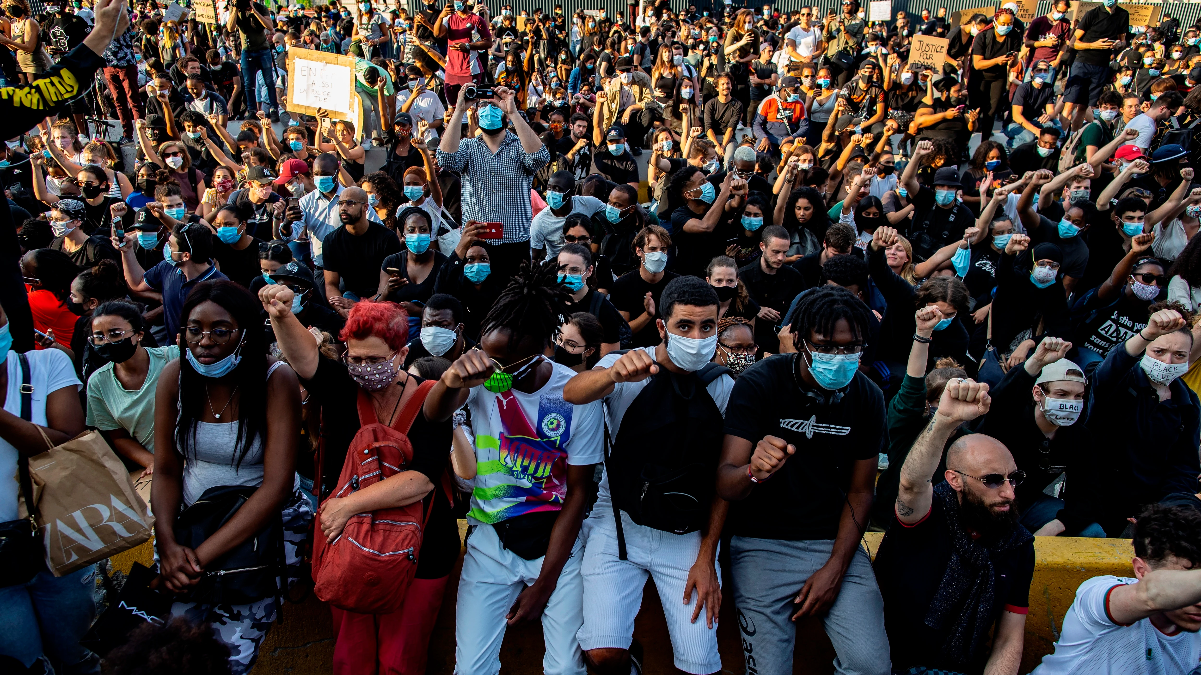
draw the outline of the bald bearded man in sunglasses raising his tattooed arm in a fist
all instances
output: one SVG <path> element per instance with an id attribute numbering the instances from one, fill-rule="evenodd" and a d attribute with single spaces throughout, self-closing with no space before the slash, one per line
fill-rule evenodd
<path id="1" fill-rule="evenodd" d="M 968 434 L 946 448 L 944 481 L 933 483 L 948 439 L 990 404 L 988 385 L 946 382 L 901 468 L 876 558 L 896 671 L 1016 675 L 1022 661 L 1034 536 L 1018 524 L 1014 488 L 1026 475 L 1000 441 Z"/>

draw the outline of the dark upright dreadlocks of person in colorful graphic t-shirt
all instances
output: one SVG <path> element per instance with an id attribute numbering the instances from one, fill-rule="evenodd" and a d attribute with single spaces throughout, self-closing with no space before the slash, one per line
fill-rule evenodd
<path id="1" fill-rule="evenodd" d="M 507 331 L 509 346 L 522 336 L 534 336 L 542 339 L 543 346 L 550 345 L 558 326 L 572 314 L 567 308 L 569 300 L 570 291 L 558 281 L 558 260 L 521 263 L 521 269 L 480 323 L 479 335 Z"/>

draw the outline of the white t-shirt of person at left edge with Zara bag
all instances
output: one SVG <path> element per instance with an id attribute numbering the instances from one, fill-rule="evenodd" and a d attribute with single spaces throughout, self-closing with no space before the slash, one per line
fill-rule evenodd
<path id="1" fill-rule="evenodd" d="M 47 426 L 46 399 L 62 387 L 83 386 L 74 374 L 74 366 L 65 351 L 60 349 L 42 349 L 26 351 L 29 358 L 29 384 L 34 385 L 34 400 L 30 405 L 30 421 L 42 427 Z M 7 355 L 8 394 L 4 409 L 20 417 L 20 360 L 16 351 Z M 49 448 L 47 448 L 49 450 Z M 17 448 L 0 438 L 0 523 L 17 519 L 17 494 L 20 492 L 17 477 Z"/>

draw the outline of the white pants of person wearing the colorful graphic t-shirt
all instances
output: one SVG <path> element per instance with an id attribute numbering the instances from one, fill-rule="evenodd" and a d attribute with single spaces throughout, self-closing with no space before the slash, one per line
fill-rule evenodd
<path id="1" fill-rule="evenodd" d="M 550 593 L 546 609 L 542 613 L 542 634 L 546 644 L 542 667 L 545 675 L 586 675 L 584 655 L 575 638 L 584 622 L 582 558 L 584 542 L 578 538 L 572 556 L 558 574 L 555 592 Z M 472 530 L 455 604 L 455 675 L 496 675 L 501 671 L 504 616 L 518 595 L 538 580 L 543 560 L 526 560 L 502 547 L 491 525 L 477 525 Z"/>

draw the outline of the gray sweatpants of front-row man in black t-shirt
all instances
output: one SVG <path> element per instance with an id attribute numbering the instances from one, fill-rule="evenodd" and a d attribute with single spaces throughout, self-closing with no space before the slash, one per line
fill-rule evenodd
<path id="1" fill-rule="evenodd" d="M 730 541 L 734 603 L 747 674 L 793 671 L 796 649 L 794 604 L 805 581 L 830 559 L 833 540 L 784 541 L 734 537 Z M 823 617 L 837 657 L 835 673 L 889 675 L 884 599 L 872 562 L 860 547 L 842 579 L 838 598 Z"/>

